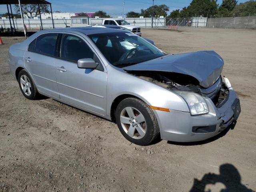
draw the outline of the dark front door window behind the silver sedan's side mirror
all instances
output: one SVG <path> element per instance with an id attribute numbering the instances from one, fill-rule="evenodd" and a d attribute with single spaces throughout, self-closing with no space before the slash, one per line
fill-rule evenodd
<path id="1" fill-rule="evenodd" d="M 74 63 L 79 59 L 94 58 L 91 48 L 81 38 L 64 34 L 62 38 L 61 58 Z"/>

